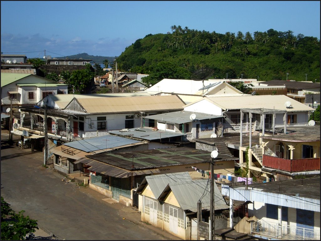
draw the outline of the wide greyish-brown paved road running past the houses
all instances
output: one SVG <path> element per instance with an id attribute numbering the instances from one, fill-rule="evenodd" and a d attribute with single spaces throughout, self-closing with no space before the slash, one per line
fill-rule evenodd
<path id="1" fill-rule="evenodd" d="M 89 196 L 96 194 L 84 192 L 73 182 L 65 184 L 62 175 L 42 164 L 42 152 L 31 153 L 2 142 L 1 196 L 13 210 L 25 210 L 25 215 L 38 220 L 48 234 L 60 240 L 164 239 L 122 219 L 117 208 Z"/>

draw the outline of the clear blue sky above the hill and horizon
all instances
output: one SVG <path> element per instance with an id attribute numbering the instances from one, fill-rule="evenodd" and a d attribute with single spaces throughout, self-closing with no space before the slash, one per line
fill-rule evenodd
<path id="1" fill-rule="evenodd" d="M 320 39 L 320 1 L 1 1 L 1 51 L 119 56 L 172 25 L 252 36 L 291 30 Z"/>

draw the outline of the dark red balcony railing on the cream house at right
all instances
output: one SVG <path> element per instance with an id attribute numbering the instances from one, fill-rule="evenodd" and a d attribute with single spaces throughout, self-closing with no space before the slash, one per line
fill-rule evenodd
<path id="1" fill-rule="evenodd" d="M 305 172 L 320 170 L 320 157 L 284 159 L 276 156 L 263 155 L 263 166 L 286 172 Z"/>

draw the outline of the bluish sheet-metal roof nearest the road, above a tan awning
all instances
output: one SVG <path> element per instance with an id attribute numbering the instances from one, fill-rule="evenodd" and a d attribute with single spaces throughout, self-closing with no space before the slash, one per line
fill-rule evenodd
<path id="1" fill-rule="evenodd" d="M 85 152 L 92 152 L 103 149 L 111 149 L 115 147 L 121 147 L 126 145 L 135 145 L 141 143 L 139 140 L 129 139 L 125 137 L 115 135 L 105 135 L 100 137 L 93 137 L 78 141 L 71 141 L 65 143 L 67 147 L 73 147 Z"/>

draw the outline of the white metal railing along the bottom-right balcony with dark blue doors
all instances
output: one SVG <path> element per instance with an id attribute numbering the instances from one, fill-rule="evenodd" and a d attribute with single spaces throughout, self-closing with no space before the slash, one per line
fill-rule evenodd
<path id="1" fill-rule="evenodd" d="M 290 225 L 251 222 L 251 234 L 265 235 L 269 239 L 320 240 L 320 231 Z"/>

